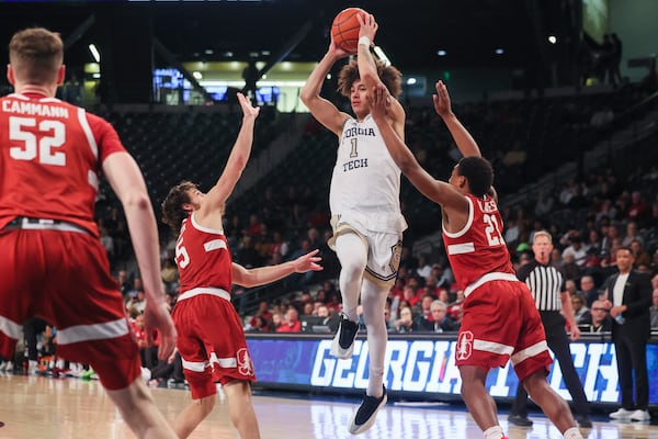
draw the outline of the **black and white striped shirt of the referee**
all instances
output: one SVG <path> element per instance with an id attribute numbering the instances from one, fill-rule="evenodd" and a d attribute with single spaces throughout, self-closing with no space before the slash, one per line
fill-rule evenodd
<path id="1" fill-rule="evenodd" d="M 561 309 L 560 294 L 566 291 L 566 279 L 559 268 L 533 259 L 519 268 L 517 277 L 530 288 L 538 311 Z"/>

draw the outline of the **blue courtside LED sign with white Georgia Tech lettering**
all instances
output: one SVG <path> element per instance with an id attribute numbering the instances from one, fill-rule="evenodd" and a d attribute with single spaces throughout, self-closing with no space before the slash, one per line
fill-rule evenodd
<path id="1" fill-rule="evenodd" d="M 367 385 L 367 342 L 358 339 L 349 360 L 338 360 L 330 351 L 331 339 L 247 339 L 258 382 L 262 386 L 286 384 L 333 389 L 365 389 Z M 572 342 L 574 364 L 590 402 L 619 403 L 617 370 L 612 342 Z M 456 340 L 392 339 L 388 341 L 384 383 L 389 391 L 427 393 L 432 398 L 460 395 L 460 371 L 455 367 Z M 647 346 L 649 371 L 658 368 L 658 345 Z M 548 375 L 551 386 L 565 398 L 567 391 L 556 363 Z M 487 390 L 497 398 L 512 398 L 519 381 L 510 363 L 492 369 Z M 658 404 L 658 385 L 650 385 L 650 404 Z"/>

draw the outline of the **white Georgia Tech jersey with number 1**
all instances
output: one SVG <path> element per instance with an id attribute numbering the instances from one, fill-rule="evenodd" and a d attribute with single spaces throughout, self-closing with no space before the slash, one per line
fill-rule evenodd
<path id="1" fill-rule="evenodd" d="M 407 228 L 399 196 L 400 170 L 375 121 L 370 114 L 347 120 L 331 177 L 331 214 L 362 230 L 399 233 Z"/>

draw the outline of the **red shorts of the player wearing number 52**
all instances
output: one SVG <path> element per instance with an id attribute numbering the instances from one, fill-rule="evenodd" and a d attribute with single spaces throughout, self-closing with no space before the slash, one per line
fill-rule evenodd
<path id="1" fill-rule="evenodd" d="M 23 323 L 57 329 L 57 354 L 91 364 L 110 390 L 139 376 L 139 353 L 105 249 L 86 233 L 0 232 L 0 354 L 12 357 Z"/>

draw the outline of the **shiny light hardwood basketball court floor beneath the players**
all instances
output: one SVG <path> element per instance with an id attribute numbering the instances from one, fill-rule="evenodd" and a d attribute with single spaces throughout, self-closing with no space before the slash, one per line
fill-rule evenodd
<path id="1" fill-rule="evenodd" d="M 135 436 L 105 396 L 98 381 L 49 379 L 43 376 L 0 375 L 0 438 L 11 439 L 124 439 Z M 190 401 L 182 390 L 152 389 L 160 410 L 168 419 Z M 294 397 L 293 397 L 294 396 Z M 191 438 L 235 439 L 226 401 L 218 398 L 214 413 Z M 347 424 L 359 404 L 356 399 L 317 399 L 304 394 L 288 397 L 256 394 L 254 408 L 263 439 L 343 439 L 355 438 Z M 537 414 L 531 414 L 532 428 L 508 426 L 501 410 L 503 429 L 512 439 L 561 438 Z M 612 423 L 594 417 L 594 426 L 583 429 L 590 439 L 658 439 L 658 426 L 650 423 Z M 655 421 L 654 421 L 655 424 Z M 483 437 L 475 421 L 458 405 L 390 403 L 383 408 L 375 426 L 358 436 L 363 439 L 433 439 Z"/>

